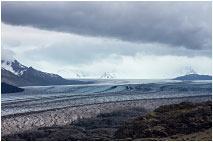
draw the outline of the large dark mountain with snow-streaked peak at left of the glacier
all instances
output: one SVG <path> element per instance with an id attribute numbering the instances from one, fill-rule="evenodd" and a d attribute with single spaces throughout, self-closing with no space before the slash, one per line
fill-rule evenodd
<path id="1" fill-rule="evenodd" d="M 67 80 L 57 74 L 46 73 L 32 67 L 26 67 L 17 60 L 1 60 L 1 79 L 14 86 L 36 86 L 36 85 L 72 85 L 85 84 L 78 80 Z"/>

